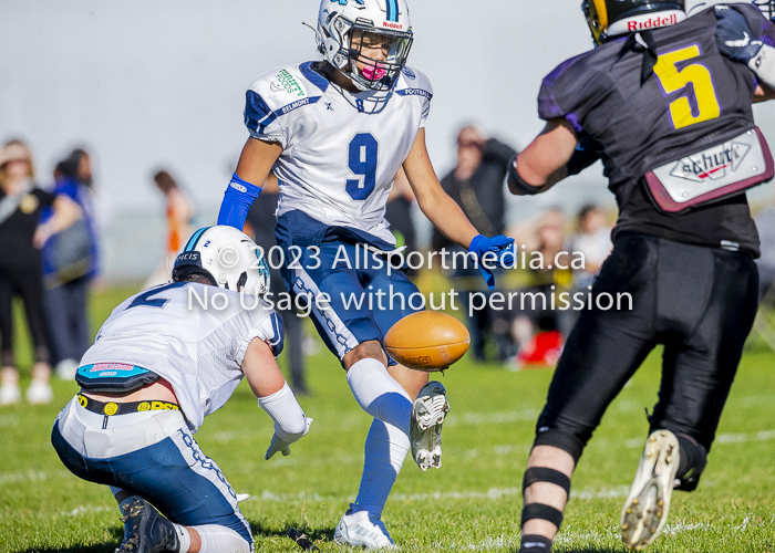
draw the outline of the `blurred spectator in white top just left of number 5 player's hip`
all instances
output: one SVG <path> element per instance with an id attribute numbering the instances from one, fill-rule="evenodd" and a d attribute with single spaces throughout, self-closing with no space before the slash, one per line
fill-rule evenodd
<path id="1" fill-rule="evenodd" d="M 581 208 L 576 225 L 577 232 L 570 239 L 569 250 L 583 254 L 585 268 L 574 273 L 575 286 L 583 289 L 592 284 L 602 262 L 611 253 L 613 242 L 606 213 L 593 204 Z"/>

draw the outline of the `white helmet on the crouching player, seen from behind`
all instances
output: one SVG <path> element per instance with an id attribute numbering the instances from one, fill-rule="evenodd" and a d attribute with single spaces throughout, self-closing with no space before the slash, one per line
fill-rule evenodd
<path id="1" fill-rule="evenodd" d="M 234 227 L 199 229 L 186 242 L 173 268 L 173 282 L 199 273 L 226 290 L 260 296 L 269 292 L 269 265 L 261 249 Z"/>

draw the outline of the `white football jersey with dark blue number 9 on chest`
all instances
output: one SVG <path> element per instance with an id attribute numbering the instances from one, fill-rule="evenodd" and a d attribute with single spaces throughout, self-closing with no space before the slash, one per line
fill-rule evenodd
<path id="1" fill-rule="evenodd" d="M 258 77 L 247 92 L 245 124 L 254 138 L 276 142 L 277 217 L 298 210 L 329 227 L 351 227 L 389 243 L 384 220 L 396 173 L 425 126 L 433 88 L 404 67 L 389 93 L 350 93 L 313 62 Z"/>

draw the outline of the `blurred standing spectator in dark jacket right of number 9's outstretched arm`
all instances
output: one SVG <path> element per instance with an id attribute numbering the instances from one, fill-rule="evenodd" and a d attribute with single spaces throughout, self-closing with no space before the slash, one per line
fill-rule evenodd
<path id="1" fill-rule="evenodd" d="M 476 230 L 485 236 L 502 234 L 504 230 L 505 185 L 508 163 L 516 150 L 495 138 L 489 138 L 472 125 L 457 134 L 457 165 L 442 179 L 442 187 L 463 209 Z M 441 251 L 453 246 L 438 230 L 434 230 L 433 249 Z M 469 265 L 454 268 L 451 274 L 453 288 L 461 293 L 461 305 L 466 315 L 472 292 L 490 293 L 482 282 L 478 269 Z M 503 313 L 503 312 L 502 312 Z M 487 336 L 493 334 L 498 357 L 509 357 L 508 321 L 489 309 L 475 310 L 468 320 L 468 332 L 474 357 L 485 361 Z"/>

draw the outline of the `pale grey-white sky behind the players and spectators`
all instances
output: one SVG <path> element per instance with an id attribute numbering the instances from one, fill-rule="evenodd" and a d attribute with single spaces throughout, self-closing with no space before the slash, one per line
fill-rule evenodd
<path id="1" fill-rule="evenodd" d="M 157 223 L 163 206 L 151 175 L 158 167 L 179 178 L 206 213 L 200 222 L 211 223 L 248 136 L 248 85 L 276 66 L 318 59 L 301 24 L 316 23 L 316 0 L 0 1 L 0 139 L 27 139 L 42 181 L 85 145 L 114 236 L 137 218 Z M 542 76 L 591 46 L 579 0 L 410 0 L 410 65 L 434 85 L 427 140 L 440 176 L 454 165 L 464 123 L 528 144 L 542 127 Z M 772 106 L 757 109 L 775 144 Z M 510 217 L 548 205 L 570 211 L 588 198 L 611 205 L 604 186 L 597 165 L 544 197 L 509 199 Z"/>

